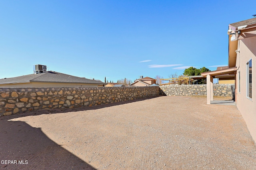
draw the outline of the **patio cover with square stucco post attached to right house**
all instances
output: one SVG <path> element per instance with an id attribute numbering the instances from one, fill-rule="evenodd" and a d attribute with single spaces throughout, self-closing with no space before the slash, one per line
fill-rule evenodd
<path id="1" fill-rule="evenodd" d="M 223 74 L 234 74 L 236 72 L 236 67 L 226 68 L 222 70 L 215 70 L 209 72 L 202 72 L 201 75 L 206 77 L 207 84 L 207 104 L 211 104 L 213 101 L 213 78 L 215 76 L 223 75 Z"/>

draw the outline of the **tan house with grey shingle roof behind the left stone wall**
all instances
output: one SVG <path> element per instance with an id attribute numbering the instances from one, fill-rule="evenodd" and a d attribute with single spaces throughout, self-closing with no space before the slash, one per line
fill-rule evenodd
<path id="1" fill-rule="evenodd" d="M 100 87 L 100 80 L 71 76 L 60 72 L 47 71 L 12 78 L 0 79 L 0 87 Z"/>

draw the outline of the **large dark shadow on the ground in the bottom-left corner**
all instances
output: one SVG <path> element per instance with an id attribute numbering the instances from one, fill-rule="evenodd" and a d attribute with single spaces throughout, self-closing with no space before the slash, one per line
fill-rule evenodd
<path id="1" fill-rule="evenodd" d="M 0 169 L 95 169 L 54 143 L 40 128 L 6 117 L 0 119 Z M 5 164 L 4 160 L 13 162 Z"/>

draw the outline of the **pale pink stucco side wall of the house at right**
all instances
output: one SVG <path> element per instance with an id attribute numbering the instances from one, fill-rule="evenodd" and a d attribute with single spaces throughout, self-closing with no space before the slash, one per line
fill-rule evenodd
<path id="1" fill-rule="evenodd" d="M 256 37 L 239 40 L 240 53 L 236 57 L 236 105 L 247 127 L 256 141 Z M 252 59 L 252 99 L 246 95 L 246 63 Z M 240 72 L 240 92 L 238 92 L 238 72 Z"/>

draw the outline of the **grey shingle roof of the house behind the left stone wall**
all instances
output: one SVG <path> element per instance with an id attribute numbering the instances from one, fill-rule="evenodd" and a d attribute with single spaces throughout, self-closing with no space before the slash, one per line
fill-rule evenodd
<path id="1" fill-rule="evenodd" d="M 91 80 L 88 78 L 71 76 L 60 72 L 43 72 L 40 74 L 28 74 L 12 78 L 0 79 L 0 84 L 20 83 L 20 82 L 62 82 L 62 83 L 89 83 L 89 84 L 107 84 L 100 80 Z"/>

